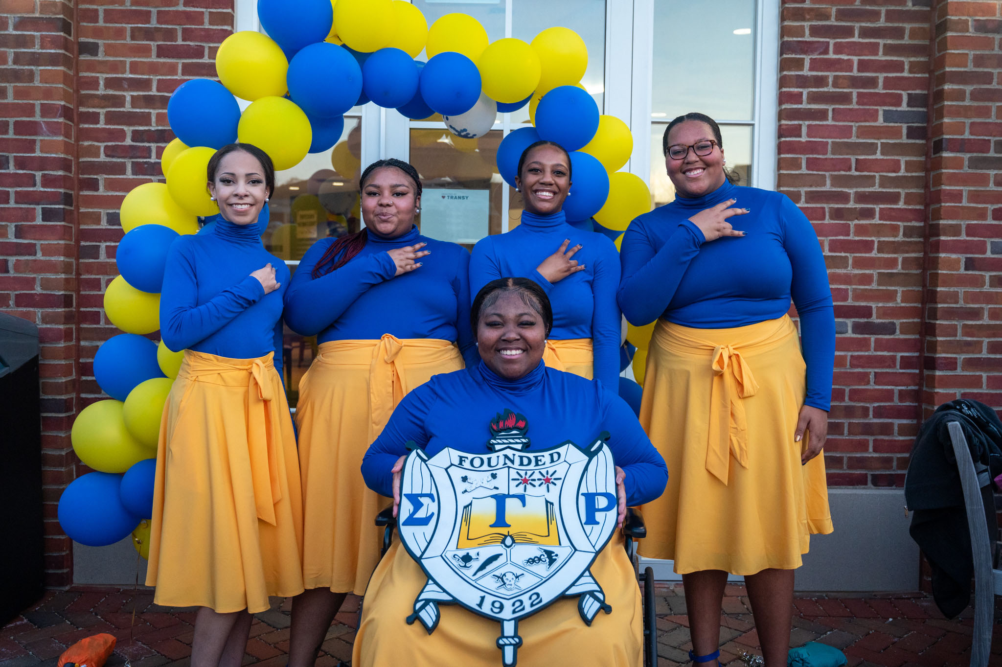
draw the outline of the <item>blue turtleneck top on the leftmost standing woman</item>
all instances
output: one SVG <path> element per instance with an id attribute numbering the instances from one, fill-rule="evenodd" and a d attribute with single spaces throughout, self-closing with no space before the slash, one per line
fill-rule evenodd
<path id="1" fill-rule="evenodd" d="M 270 263 L 281 285 L 266 294 L 250 273 Z M 230 359 L 275 353 L 282 375 L 282 296 L 286 262 L 265 249 L 257 224 L 218 217 L 210 229 L 170 244 L 160 292 L 160 337 L 170 350 Z"/>

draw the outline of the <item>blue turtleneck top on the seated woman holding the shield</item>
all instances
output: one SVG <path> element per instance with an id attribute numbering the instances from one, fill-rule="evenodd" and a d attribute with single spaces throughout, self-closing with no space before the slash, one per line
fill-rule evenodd
<path id="1" fill-rule="evenodd" d="M 541 362 L 518 380 L 505 380 L 483 363 L 434 376 L 400 402 L 383 433 L 362 460 L 362 476 L 373 491 L 393 496 L 391 469 L 413 441 L 429 457 L 446 447 L 486 454 L 489 424 L 505 409 L 524 415 L 530 449 L 570 440 L 588 447 L 609 432 L 615 464 L 626 473 L 626 504 L 641 505 L 664 492 L 668 470 L 636 416 L 601 385 Z"/>

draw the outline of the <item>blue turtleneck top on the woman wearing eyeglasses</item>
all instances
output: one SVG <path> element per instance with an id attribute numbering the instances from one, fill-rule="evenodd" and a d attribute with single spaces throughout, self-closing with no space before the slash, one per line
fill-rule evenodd
<path id="1" fill-rule="evenodd" d="M 752 212 L 727 221 L 745 236 L 705 242 L 688 218 L 726 199 Z M 696 328 L 782 317 L 793 298 L 801 319 L 809 406 L 829 410 L 835 310 L 814 227 L 785 194 L 729 182 L 697 198 L 675 197 L 633 220 L 620 250 L 618 300 L 636 325 L 663 317 Z"/>

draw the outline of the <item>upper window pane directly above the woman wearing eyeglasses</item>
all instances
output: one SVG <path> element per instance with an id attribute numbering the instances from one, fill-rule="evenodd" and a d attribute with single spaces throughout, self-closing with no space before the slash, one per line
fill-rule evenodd
<path id="1" fill-rule="evenodd" d="M 655 0 L 654 120 L 689 111 L 753 119 L 755 15 L 750 0 Z"/>

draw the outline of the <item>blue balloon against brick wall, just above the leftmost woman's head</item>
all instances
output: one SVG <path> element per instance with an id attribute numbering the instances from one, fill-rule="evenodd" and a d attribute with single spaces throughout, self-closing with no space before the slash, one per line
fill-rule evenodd
<path id="1" fill-rule="evenodd" d="M 236 98 L 218 81 L 185 81 L 167 101 L 170 129 L 188 146 L 222 148 L 233 143 L 239 121 Z"/>

